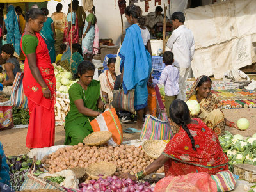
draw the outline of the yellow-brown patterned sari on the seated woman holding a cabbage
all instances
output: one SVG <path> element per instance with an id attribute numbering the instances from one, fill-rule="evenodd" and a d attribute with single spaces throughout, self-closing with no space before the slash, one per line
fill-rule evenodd
<path id="1" fill-rule="evenodd" d="M 202 76 L 201 76 L 202 77 Z M 193 83 L 191 90 L 186 98 L 186 100 L 197 100 L 196 99 L 196 86 L 198 85 L 201 77 L 198 77 L 196 81 Z M 197 100 L 198 101 L 198 100 Z M 207 127 L 214 130 L 214 132 L 221 136 L 225 132 L 225 119 L 224 114 L 221 111 L 220 101 L 216 97 L 216 95 L 209 93 L 208 97 L 201 100 L 200 111 L 197 116 L 193 116 L 193 118 L 198 117 L 207 125 Z"/>

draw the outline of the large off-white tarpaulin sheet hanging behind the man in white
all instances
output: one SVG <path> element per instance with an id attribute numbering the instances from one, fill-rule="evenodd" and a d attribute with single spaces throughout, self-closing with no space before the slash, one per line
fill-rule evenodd
<path id="1" fill-rule="evenodd" d="M 256 1 L 230 0 L 185 11 L 185 25 L 193 31 L 195 55 L 191 63 L 195 77 L 216 79 L 226 70 L 256 61 Z"/>

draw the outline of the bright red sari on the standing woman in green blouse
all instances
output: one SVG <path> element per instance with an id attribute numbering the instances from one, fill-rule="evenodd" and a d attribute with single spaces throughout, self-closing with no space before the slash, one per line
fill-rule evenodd
<path id="1" fill-rule="evenodd" d="M 51 91 L 51 99 L 43 96 L 42 89 L 32 76 L 26 57 L 24 66 L 23 87 L 24 93 L 28 98 L 29 106 L 29 125 L 26 145 L 28 148 L 51 147 L 54 145 L 55 136 L 55 89 L 56 80 L 54 67 L 51 64 L 51 58 L 44 39 L 39 33 L 38 46 L 36 47 L 36 66 L 40 74 Z M 23 38 L 23 36 L 22 36 Z M 22 50 L 23 52 L 23 50 Z"/>

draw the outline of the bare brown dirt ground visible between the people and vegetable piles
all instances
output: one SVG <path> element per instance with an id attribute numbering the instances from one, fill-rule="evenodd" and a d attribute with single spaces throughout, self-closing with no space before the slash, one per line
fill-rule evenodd
<path id="1" fill-rule="evenodd" d="M 252 136 L 256 132 L 256 108 L 250 109 L 228 109 L 223 110 L 228 120 L 236 122 L 239 118 L 245 117 L 250 121 L 250 127 L 246 131 L 239 131 L 234 128 L 226 127 L 232 134 L 241 134 L 243 136 Z M 123 129 L 133 127 L 133 124 L 122 124 Z M 0 141 L 3 144 L 6 156 L 19 155 L 29 152 L 26 147 L 26 134 L 28 129 L 8 129 L 0 132 Z M 139 133 L 124 133 L 124 141 L 136 140 L 140 138 Z M 56 127 L 55 145 L 63 145 L 65 141 L 65 129 L 63 126 Z"/>

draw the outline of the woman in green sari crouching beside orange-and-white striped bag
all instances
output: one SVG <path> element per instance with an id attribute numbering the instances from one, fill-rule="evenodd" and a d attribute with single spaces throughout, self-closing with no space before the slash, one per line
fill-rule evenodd
<path id="1" fill-rule="evenodd" d="M 100 97 L 100 83 L 93 80 L 95 66 L 90 61 L 83 61 L 77 68 L 74 79 L 79 79 L 68 90 L 70 111 L 66 116 L 65 145 L 77 145 L 92 133 L 90 121 L 100 115 L 98 109 L 107 109 Z"/>

